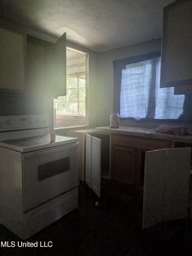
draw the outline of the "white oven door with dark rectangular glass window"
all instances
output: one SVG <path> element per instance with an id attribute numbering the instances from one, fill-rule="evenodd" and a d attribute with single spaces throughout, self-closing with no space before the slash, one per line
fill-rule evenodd
<path id="1" fill-rule="evenodd" d="M 24 212 L 78 186 L 78 146 L 22 154 Z"/>

